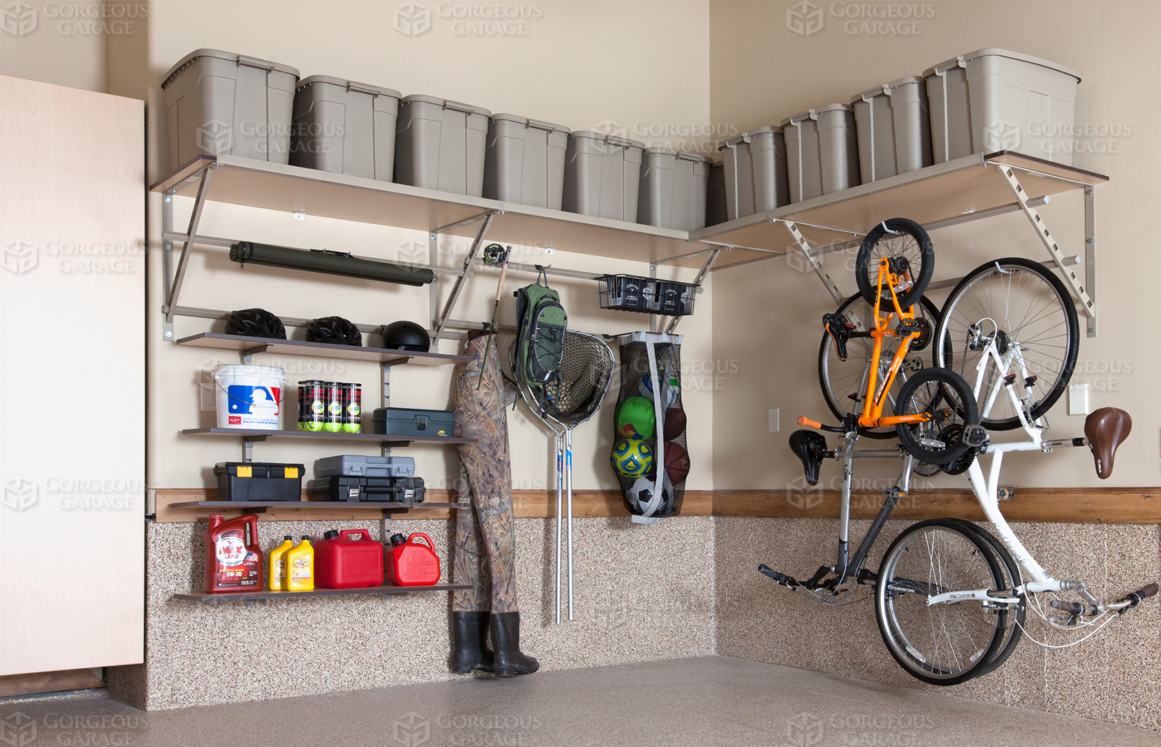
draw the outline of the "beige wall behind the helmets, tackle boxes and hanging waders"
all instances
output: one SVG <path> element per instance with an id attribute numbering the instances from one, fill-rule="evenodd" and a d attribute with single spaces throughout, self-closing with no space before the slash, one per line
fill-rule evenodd
<path id="1" fill-rule="evenodd" d="M 369 2 L 153 2 L 150 5 L 149 74 L 151 180 L 160 178 L 166 160 L 164 106 L 160 82 L 170 67 L 187 52 L 215 48 L 243 52 L 297 67 L 303 77 L 327 74 L 396 88 L 404 94 L 425 93 L 467 101 L 495 113 L 560 122 L 572 129 L 589 129 L 608 122 L 648 132 L 649 123 L 702 123 L 709 114 L 708 5 L 706 2 L 542 2 L 531 3 L 540 17 L 527 22 L 527 35 L 518 37 L 463 37 L 454 34 L 453 21 L 439 16 L 435 3 L 432 28 L 409 37 L 392 27 L 397 3 Z M 440 6 L 441 7 L 441 6 Z M 277 9 L 273 12 L 272 9 Z M 255 34 L 255 28 L 262 28 Z M 124 69 L 110 72 L 110 82 L 139 86 L 135 74 L 136 50 L 118 48 Z M 111 59 L 110 55 L 110 59 Z M 658 128 L 654 128 L 656 131 Z M 664 128 L 662 128 L 664 130 Z M 670 128 L 671 131 L 684 131 Z M 648 139 L 648 138 L 647 138 Z M 650 144 L 663 144 L 661 141 Z M 183 227 L 190 200 L 179 199 L 175 225 Z M 160 196 L 151 195 L 151 258 L 159 259 Z M 294 221 L 279 214 L 224 204 L 210 204 L 202 221 L 210 236 L 246 238 L 298 247 L 327 247 L 369 257 L 394 258 L 399 251 L 426 245 L 426 234 L 385 227 L 360 225 L 308 216 Z M 503 240 L 502 235 L 489 238 Z M 467 239 L 441 245 L 442 261 L 453 263 L 467 251 Z M 603 272 L 648 274 L 648 266 L 615 259 L 597 259 L 567 253 L 558 247 L 551 257 L 535 247 L 517 247 L 513 258 L 526 263 Z M 240 446 L 232 440 L 196 440 L 178 436 L 183 428 L 211 424 L 211 412 L 199 411 L 199 381 L 215 361 L 237 362 L 209 350 L 175 350 L 163 344 L 160 322 L 160 261 L 151 266 L 154 297 L 149 306 L 150 358 L 150 484 L 151 487 L 201 487 L 210 484 L 209 469 L 216 461 L 237 460 Z M 693 271 L 675 271 L 662 276 L 692 279 Z M 482 272 L 464 293 L 455 317 L 484 321 L 491 315 L 496 275 Z M 507 293 L 500 306 L 500 322 L 514 321 L 511 292 L 532 281 L 531 275 L 510 273 Z M 570 325 L 590 332 L 626 332 L 643 329 L 647 317 L 600 311 L 596 283 L 553 279 L 569 310 Z M 450 282 L 444 280 L 446 296 Z M 308 275 L 260 267 L 239 270 L 224 250 L 199 250 L 192 259 L 183 306 L 218 309 L 260 306 L 286 316 L 344 315 L 360 323 L 387 323 L 397 318 L 425 322 L 427 289 L 387 283 Z M 699 371 L 712 355 L 709 309 L 712 290 L 698 299 L 701 313 L 683 321 L 687 333 L 683 357 L 687 368 Z M 221 331 L 221 322 L 180 318 L 176 337 L 207 330 Z M 291 335 L 294 335 L 291 330 Z M 297 333 L 301 336 L 302 331 Z M 506 340 L 505 340 L 506 344 Z M 454 342 L 441 350 L 455 352 Z M 257 358 L 282 365 L 288 381 L 315 378 L 318 361 L 310 359 Z M 315 367 L 311 367 L 315 366 Z M 291 373 L 293 372 L 293 373 Z M 378 397 L 378 369 L 373 364 L 323 361 L 322 372 L 344 381 L 363 385 L 365 407 Z M 300 375 L 302 374 L 302 375 Z M 398 407 L 444 408 L 450 404 L 450 367 L 408 369 L 392 373 L 392 403 Z M 712 387 L 706 376 L 691 379 L 685 407 L 691 423 L 693 468 L 691 489 L 712 487 L 711 429 Z M 607 467 L 612 446 L 612 405 L 615 387 L 593 423 L 575 437 L 575 484 L 578 488 L 614 488 Z M 294 407 L 288 408 L 291 417 Z M 286 416 L 284 416 L 286 417 Z M 291 423 L 293 421 L 287 421 Z M 525 409 L 510 412 L 513 479 L 517 488 L 551 484 L 550 444 L 546 431 L 528 419 Z M 301 461 L 309 466 L 318 457 L 319 444 L 261 444 L 254 458 L 268 461 Z M 349 448 L 375 453 L 374 447 Z M 452 450 L 419 447 L 406 452 L 417 459 L 418 474 L 433 487 L 446 487 L 442 475 L 457 474 Z"/>

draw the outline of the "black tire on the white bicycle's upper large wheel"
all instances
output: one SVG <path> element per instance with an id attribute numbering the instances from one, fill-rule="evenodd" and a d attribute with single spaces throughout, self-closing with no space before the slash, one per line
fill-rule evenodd
<path id="1" fill-rule="evenodd" d="M 960 335 L 957 332 L 951 332 L 950 328 L 952 325 L 962 326 L 966 319 L 990 317 L 993 319 L 996 319 L 998 323 L 1000 318 L 1004 318 L 1005 319 L 1004 330 L 1007 330 L 1005 335 L 1009 338 L 1014 337 L 1014 335 L 1011 333 L 1012 329 L 1019 329 L 1021 326 L 1027 323 L 1022 321 L 1017 328 L 1012 328 L 1010 321 L 1007 318 L 1008 314 L 1000 314 L 997 313 L 996 309 L 981 309 L 980 308 L 981 301 L 978 299 L 972 299 L 971 302 L 965 300 L 965 294 L 967 289 L 975 287 L 975 285 L 980 281 L 981 278 L 995 274 L 997 268 L 1001 272 L 1003 272 L 1005 267 L 1012 267 L 1012 268 L 1018 267 L 1024 271 L 1031 272 L 1038 275 L 1041 280 L 1044 280 L 1047 283 L 1047 286 L 1052 289 L 1052 293 L 1055 295 L 1055 301 L 1060 306 L 1060 311 L 1061 311 L 1060 323 L 1062 323 L 1065 328 L 1059 332 L 1059 335 L 1053 336 L 1053 339 L 1055 337 L 1060 337 L 1061 339 L 1059 340 L 1059 343 L 1062 344 L 1062 346 L 1065 347 L 1065 352 L 1060 357 L 1060 366 L 1059 366 L 1060 369 L 1058 372 L 1053 372 L 1054 379 L 1052 380 L 1051 383 L 1041 385 L 1038 379 L 1034 385 L 1039 396 L 1037 397 L 1036 404 L 1032 405 L 1031 417 L 1033 421 L 1036 421 L 1045 412 L 1047 412 L 1052 408 L 1052 405 L 1057 403 L 1058 400 L 1060 400 L 1060 395 L 1063 394 L 1065 387 L 1068 386 L 1068 381 L 1072 379 L 1073 371 L 1076 366 L 1076 355 L 1080 350 L 1080 323 L 1076 317 L 1076 304 L 1073 302 L 1072 295 L 1069 295 L 1068 289 L 1065 287 L 1065 283 L 1060 280 L 1060 278 L 1058 278 L 1055 273 L 1053 273 L 1051 270 L 1048 270 L 1040 263 L 1034 261 L 1032 259 L 1025 259 L 1023 257 L 1004 257 L 1002 259 L 996 259 L 989 263 L 985 263 L 983 265 L 980 265 L 968 275 L 966 275 L 962 280 L 960 280 L 959 283 L 956 286 L 956 288 L 951 292 L 951 295 L 947 296 L 947 300 L 944 302 L 943 309 L 940 310 L 939 324 L 933 335 L 933 339 L 937 343 L 942 340 L 943 344 L 936 344 L 933 346 L 931 357 L 932 357 L 932 362 L 937 367 L 953 369 L 952 366 L 954 361 L 952 360 L 952 354 L 954 351 L 954 343 L 956 343 L 956 339 L 953 338 L 959 337 Z M 971 310 L 969 316 L 967 315 L 968 314 L 967 310 L 964 311 L 962 319 L 960 318 L 961 315 L 957 313 L 957 309 L 959 308 L 961 302 L 964 307 Z M 983 315 L 982 317 L 980 316 L 981 314 Z M 1053 309 L 1050 314 L 1055 314 L 1055 309 Z M 1047 318 L 1045 316 L 1045 311 L 1041 308 L 1038 308 L 1036 317 L 1032 319 L 1032 322 L 1037 322 L 1044 318 Z M 1015 337 L 1017 339 L 1019 338 L 1018 335 Z M 1022 345 L 1033 345 L 1033 343 L 1024 343 L 1023 340 L 1021 342 Z M 1045 344 L 1045 347 L 1050 346 Z M 961 375 L 964 375 L 966 371 L 973 368 L 972 357 L 968 354 L 961 355 L 959 360 L 959 367 L 961 368 L 960 371 Z M 986 398 L 987 395 L 981 392 L 981 397 Z M 1007 401 L 1007 400 L 1002 398 L 1001 401 Z M 993 418 L 993 417 L 983 417 L 981 415 L 980 424 L 983 425 L 983 428 L 988 429 L 989 431 L 1009 431 L 1015 428 L 1019 428 L 1019 417 L 1012 415 L 1010 417 Z"/>

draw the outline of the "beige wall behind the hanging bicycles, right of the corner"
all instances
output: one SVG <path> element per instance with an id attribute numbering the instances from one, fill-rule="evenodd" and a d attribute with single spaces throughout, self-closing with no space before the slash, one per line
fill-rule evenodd
<path id="1" fill-rule="evenodd" d="M 849 102 L 878 84 L 918 76 L 926 67 L 975 49 L 1018 50 L 1081 72 L 1076 122 L 1111 124 L 1128 134 L 1112 138 L 1116 152 L 1080 152 L 1075 165 L 1110 175 L 1096 189 L 1098 246 L 1096 297 L 1099 337 L 1081 335 L 1074 381 L 1089 381 L 1091 407 L 1115 405 L 1134 418 L 1131 438 L 1106 482 L 1080 451 L 1024 454 L 1004 465 L 1003 482 L 1048 486 L 1158 484 L 1158 428 L 1152 404 L 1161 351 L 1151 342 L 1156 324 L 1141 310 L 1155 295 L 1161 259 L 1148 216 L 1159 209 L 1158 163 L 1161 139 L 1156 100 L 1161 77 L 1153 62 L 1152 36 L 1161 6 L 1149 2 L 933 2 L 917 36 L 849 35 L 832 3 L 822 30 L 809 36 L 786 24 L 788 2 L 715 2 L 711 8 L 712 118 L 743 129 L 778 124 L 810 107 Z M 845 3 L 839 3 L 839 8 Z M 1104 138 L 1077 138 L 1093 149 Z M 1066 253 L 1082 253 L 1083 202 L 1061 195 L 1040 211 Z M 899 214 L 907 215 L 900 206 Z M 893 217 L 893 216 L 884 216 Z M 932 235 L 936 279 L 957 278 L 988 259 L 1047 253 L 1027 220 L 1014 214 Z M 801 475 L 786 438 L 799 415 L 829 419 L 817 383 L 821 317 L 834 310 L 813 273 L 785 259 L 714 273 L 714 357 L 737 359 L 738 373 L 714 398 L 715 482 L 724 488 L 781 488 Z M 844 293 L 854 293 L 851 254 L 827 257 L 828 272 Z M 723 286 L 724 283 L 724 286 Z M 721 288 L 730 288 L 722 293 Z M 945 292 L 944 292 L 945 293 Z M 932 293 L 937 303 L 944 295 Z M 1083 316 L 1081 319 L 1083 321 Z M 1147 314 L 1146 314 L 1147 318 Z M 1119 372 L 1119 373 L 1117 373 Z M 1115 387 L 1115 388 L 1113 388 Z M 770 433 L 766 410 L 781 408 L 783 430 Z M 1066 415 L 1063 400 L 1051 412 L 1053 433 L 1080 434 L 1083 418 Z M 860 462 L 856 476 L 885 477 L 896 462 Z M 828 487 L 838 474 L 823 467 Z M 966 487 L 943 477 L 928 487 Z M 1017 497 L 1018 500 L 1018 497 Z"/>

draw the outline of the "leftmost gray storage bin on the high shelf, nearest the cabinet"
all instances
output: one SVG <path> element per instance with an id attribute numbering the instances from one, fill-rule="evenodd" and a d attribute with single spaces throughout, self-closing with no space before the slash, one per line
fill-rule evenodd
<path id="1" fill-rule="evenodd" d="M 298 71 L 216 49 L 199 49 L 161 82 L 170 171 L 200 155 L 241 156 L 286 164 L 290 108 Z"/>

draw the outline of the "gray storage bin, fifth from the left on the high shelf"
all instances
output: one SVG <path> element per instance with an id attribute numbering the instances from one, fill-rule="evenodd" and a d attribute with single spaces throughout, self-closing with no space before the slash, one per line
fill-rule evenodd
<path id="1" fill-rule="evenodd" d="M 644 143 L 577 130 L 564 153 L 564 197 L 569 213 L 616 221 L 637 220 L 637 189 Z"/>

